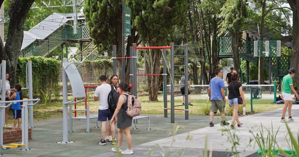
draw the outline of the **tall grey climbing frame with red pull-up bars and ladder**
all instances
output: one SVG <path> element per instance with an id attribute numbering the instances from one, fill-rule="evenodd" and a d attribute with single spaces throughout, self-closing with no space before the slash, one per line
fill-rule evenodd
<path id="1" fill-rule="evenodd" d="M 184 55 L 175 55 L 174 49 L 175 47 L 184 48 Z M 163 56 L 163 74 L 137 74 L 137 50 L 138 49 L 160 49 L 162 50 Z M 168 68 L 166 63 L 166 50 L 170 49 L 170 68 Z M 130 79 L 132 84 L 134 85 L 132 88 L 132 94 L 137 96 L 137 76 L 163 76 L 163 102 L 164 102 L 164 117 L 167 118 L 167 110 L 170 109 L 170 117 L 171 123 L 174 123 L 174 110 L 183 110 L 185 111 L 185 119 L 189 119 L 189 109 L 188 109 L 188 95 L 175 95 L 174 87 L 175 86 L 185 86 L 185 91 L 188 91 L 188 45 L 174 45 L 174 43 L 170 43 L 170 46 L 156 46 L 156 47 L 137 47 L 136 43 L 133 43 L 133 46 L 130 47 L 130 57 L 116 57 L 116 45 L 113 45 L 113 73 L 116 74 L 116 60 L 130 58 Z M 184 65 L 174 65 L 174 57 L 184 57 Z M 174 75 L 174 67 L 183 66 L 185 68 L 184 75 Z M 171 80 L 171 100 L 170 100 L 170 108 L 167 108 L 167 68 L 170 72 L 170 80 Z M 185 77 L 185 85 L 174 85 L 174 77 Z M 188 93 L 188 92 L 187 92 Z M 175 96 L 186 96 L 185 97 L 185 105 L 174 105 L 174 97 Z M 175 109 L 177 106 L 185 106 L 185 109 Z"/>

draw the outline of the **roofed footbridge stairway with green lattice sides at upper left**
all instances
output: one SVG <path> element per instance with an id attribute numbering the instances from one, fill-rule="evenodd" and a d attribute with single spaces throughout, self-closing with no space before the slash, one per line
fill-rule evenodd
<path id="1" fill-rule="evenodd" d="M 47 57 L 58 46 L 69 42 L 90 42 L 89 29 L 83 25 L 84 15 L 78 13 L 78 21 L 81 26 L 77 27 L 77 34 L 70 25 L 74 20 L 74 13 L 53 13 L 29 31 L 24 31 L 20 57 L 43 56 Z"/>

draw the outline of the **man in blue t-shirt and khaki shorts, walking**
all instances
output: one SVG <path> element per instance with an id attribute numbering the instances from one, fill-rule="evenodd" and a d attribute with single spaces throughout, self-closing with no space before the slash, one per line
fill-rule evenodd
<path id="1" fill-rule="evenodd" d="M 219 109 L 221 114 L 221 125 L 228 125 L 224 120 L 225 95 L 224 95 L 224 81 L 222 80 L 223 71 L 220 68 L 215 69 L 216 77 L 212 78 L 209 84 L 208 94 L 211 102 L 210 106 L 210 127 L 214 126 L 214 114 Z"/>

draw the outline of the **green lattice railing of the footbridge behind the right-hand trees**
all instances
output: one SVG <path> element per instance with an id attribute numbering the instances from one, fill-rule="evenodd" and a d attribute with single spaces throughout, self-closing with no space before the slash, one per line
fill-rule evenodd
<path id="1" fill-rule="evenodd" d="M 291 51 L 291 50 L 289 50 Z M 276 52 L 274 52 L 275 54 Z M 290 53 L 289 53 L 290 54 Z M 205 53 L 207 56 L 207 53 Z M 231 50 L 231 37 L 221 36 L 219 37 L 219 57 L 232 57 Z M 239 55 L 244 60 L 248 60 L 255 65 L 258 65 L 258 57 L 254 57 L 254 40 L 249 38 L 248 40 L 242 39 L 239 48 Z M 280 57 L 271 57 L 271 71 L 277 76 L 284 76 L 290 67 L 291 56 L 280 53 Z M 264 69 L 269 70 L 269 58 L 264 58 Z"/>

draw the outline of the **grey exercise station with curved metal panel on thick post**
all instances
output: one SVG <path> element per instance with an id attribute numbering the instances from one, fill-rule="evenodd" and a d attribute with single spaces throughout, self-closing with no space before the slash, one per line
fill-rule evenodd
<path id="1" fill-rule="evenodd" d="M 76 66 L 75 64 L 79 64 Z M 68 105 L 70 108 L 70 130 L 73 127 L 72 124 L 72 105 L 74 103 L 80 103 L 85 101 L 86 94 L 83 85 L 82 78 L 79 74 L 78 68 L 80 68 L 80 62 L 68 62 L 68 59 L 64 58 L 62 60 L 62 93 L 63 93 L 63 101 L 62 101 L 62 141 L 56 142 L 59 144 L 69 144 L 75 141 L 68 141 Z M 68 101 L 68 80 L 70 81 L 73 98 L 71 101 Z M 75 102 L 75 99 L 81 98 L 81 100 Z M 78 111 L 78 110 L 77 110 Z M 86 125 L 89 129 L 89 106 L 87 106 L 87 117 L 86 117 Z"/>

